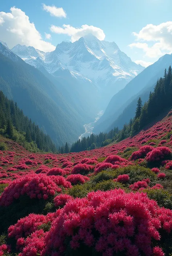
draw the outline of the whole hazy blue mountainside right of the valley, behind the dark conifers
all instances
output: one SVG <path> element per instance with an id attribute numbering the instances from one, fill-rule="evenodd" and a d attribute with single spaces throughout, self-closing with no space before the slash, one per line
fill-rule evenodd
<path id="1" fill-rule="evenodd" d="M 125 88 L 116 93 L 110 100 L 105 113 L 97 121 L 94 132 L 109 131 L 115 126 L 121 129 L 125 123 L 135 115 L 136 102 L 139 97 L 148 100 L 150 91 L 158 78 L 164 76 L 165 68 L 172 65 L 172 55 L 165 54 L 154 64 L 144 69 L 138 76 L 131 80 Z"/>

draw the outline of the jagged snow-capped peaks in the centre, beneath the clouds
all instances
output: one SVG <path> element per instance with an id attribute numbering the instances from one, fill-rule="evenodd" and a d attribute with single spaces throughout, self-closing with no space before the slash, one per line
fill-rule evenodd
<path id="1" fill-rule="evenodd" d="M 68 69 L 71 76 L 95 84 L 107 103 L 144 69 L 121 52 L 115 42 L 100 41 L 93 35 L 73 43 L 62 42 L 53 52 L 21 45 L 13 47 L 12 52 L 36 68 L 44 66 L 53 75 L 57 70 Z"/>

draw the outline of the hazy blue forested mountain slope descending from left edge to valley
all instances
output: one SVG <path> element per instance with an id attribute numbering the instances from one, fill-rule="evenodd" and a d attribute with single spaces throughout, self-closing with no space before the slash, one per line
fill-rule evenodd
<path id="1" fill-rule="evenodd" d="M 57 87 L 39 70 L 0 44 L 0 89 L 16 101 L 24 114 L 50 135 L 56 145 L 72 143 L 84 120 L 65 101 Z M 10 74 L 10 76 L 9 76 Z"/>

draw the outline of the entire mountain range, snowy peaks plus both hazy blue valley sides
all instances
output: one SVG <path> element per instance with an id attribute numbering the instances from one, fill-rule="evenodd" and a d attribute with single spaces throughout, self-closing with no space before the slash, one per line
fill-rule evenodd
<path id="1" fill-rule="evenodd" d="M 16 45 L 10 50 L 4 42 L 0 42 L 0 52 L 12 62 L 27 67 L 25 72 L 28 72 L 28 69 L 31 72 L 33 66 L 31 74 L 28 74 L 30 77 L 34 73 L 41 76 L 41 83 L 42 79 L 45 79 L 46 82 L 42 84 L 36 81 L 48 95 L 48 98 L 44 95 L 45 102 L 53 101 L 53 104 L 59 107 L 57 112 L 61 113 L 60 120 L 63 119 L 62 122 L 66 123 L 63 126 L 58 122 L 58 126 L 63 126 L 62 135 L 61 127 L 57 129 L 58 126 L 54 123 L 58 115 L 54 110 L 49 114 L 51 120 L 56 120 L 51 127 L 54 130 L 52 135 L 46 118 L 41 121 L 33 114 L 30 115 L 30 110 L 23 106 L 24 102 L 23 105 L 19 103 L 19 107 L 56 140 L 56 145 L 62 145 L 66 141 L 71 144 L 82 133 L 83 124 L 93 122 L 99 110 L 105 110 L 105 113 L 95 123 L 94 133 L 106 132 L 117 126 L 121 129 L 124 123 L 134 117 L 138 97 L 142 97 L 143 102 L 147 101 L 157 78 L 163 76 L 164 69 L 172 63 L 172 55 L 165 54 L 144 69 L 132 62 L 115 42 L 100 41 L 91 35 L 81 37 L 74 43 L 62 42 L 53 52 L 47 53 L 25 45 Z M 9 71 L 7 65 L 6 69 Z M 17 70 L 15 72 L 17 73 Z M 11 92 L 14 85 L 11 85 L 9 79 L 4 79 L 3 74 L 2 78 L 8 86 L 2 86 L 1 83 L 0 89 L 15 99 L 14 92 Z M 35 87 L 33 84 L 32 86 Z M 17 101 L 22 102 L 20 97 Z M 34 104 L 36 109 L 39 108 L 37 102 Z M 66 112 L 66 109 L 69 112 Z M 70 123 L 73 123 L 73 126 L 70 127 Z"/>

